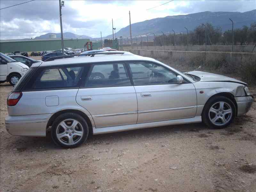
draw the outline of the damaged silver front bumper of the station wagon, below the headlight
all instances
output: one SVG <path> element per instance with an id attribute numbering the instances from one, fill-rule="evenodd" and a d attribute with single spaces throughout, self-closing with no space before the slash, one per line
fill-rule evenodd
<path id="1" fill-rule="evenodd" d="M 253 102 L 252 96 L 247 97 L 235 97 L 237 103 L 237 116 L 247 113 Z"/>

